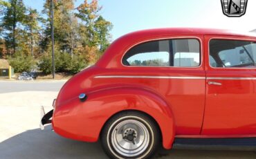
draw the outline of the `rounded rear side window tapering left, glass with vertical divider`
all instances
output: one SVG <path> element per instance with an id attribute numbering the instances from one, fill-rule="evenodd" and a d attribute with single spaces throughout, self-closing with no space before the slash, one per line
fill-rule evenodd
<path id="1" fill-rule="evenodd" d="M 197 39 L 170 39 L 134 46 L 122 58 L 122 64 L 197 67 L 200 65 L 200 59 L 200 44 Z"/>

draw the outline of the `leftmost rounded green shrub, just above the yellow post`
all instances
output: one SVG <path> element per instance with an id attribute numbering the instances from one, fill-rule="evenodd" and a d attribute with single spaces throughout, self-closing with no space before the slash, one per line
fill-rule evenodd
<path id="1" fill-rule="evenodd" d="M 16 55 L 8 57 L 10 66 L 15 68 L 15 73 L 29 72 L 35 67 L 35 59 L 32 56 Z"/>

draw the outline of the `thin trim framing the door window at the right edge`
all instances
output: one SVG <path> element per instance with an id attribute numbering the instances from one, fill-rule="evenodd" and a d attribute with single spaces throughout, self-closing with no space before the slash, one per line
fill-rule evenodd
<path id="1" fill-rule="evenodd" d="M 256 38 L 256 37 L 255 37 Z M 210 68 L 213 68 L 213 69 L 239 69 L 239 70 L 243 70 L 243 69 L 256 69 L 255 68 L 246 68 L 246 67 L 213 67 L 210 65 L 210 41 L 212 39 L 223 39 L 223 40 L 237 40 L 237 41 L 254 41 L 256 43 L 256 39 L 252 39 L 251 37 L 248 38 L 248 39 L 245 39 L 245 38 L 235 38 L 235 37 L 211 37 L 208 41 L 208 65 L 210 66 Z M 206 62 L 207 63 L 207 62 Z"/>

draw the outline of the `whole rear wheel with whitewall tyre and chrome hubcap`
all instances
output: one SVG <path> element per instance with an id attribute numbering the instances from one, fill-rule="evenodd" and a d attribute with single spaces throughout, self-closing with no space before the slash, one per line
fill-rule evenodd
<path id="1" fill-rule="evenodd" d="M 158 148 L 159 134 L 152 118 L 128 111 L 107 122 L 101 133 L 101 142 L 111 158 L 149 158 Z"/>

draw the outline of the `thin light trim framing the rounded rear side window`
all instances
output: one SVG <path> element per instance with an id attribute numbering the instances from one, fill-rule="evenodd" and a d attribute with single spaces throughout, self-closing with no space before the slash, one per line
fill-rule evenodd
<path id="1" fill-rule="evenodd" d="M 177 37 L 175 37 L 177 36 Z M 200 47 L 200 65 L 196 66 L 196 67 L 180 67 L 180 66 L 126 66 L 124 64 L 122 64 L 122 59 L 124 58 L 125 54 L 131 50 L 131 48 L 134 48 L 134 46 L 137 46 L 139 44 L 143 44 L 145 42 L 149 42 L 149 41 L 158 41 L 158 40 L 173 40 L 173 39 L 197 39 L 199 40 L 199 47 Z M 200 37 L 194 37 L 194 36 L 188 36 L 188 37 L 179 37 L 179 35 L 172 35 L 172 37 L 163 37 L 163 38 L 157 38 L 157 39 L 149 39 L 149 40 L 144 40 L 144 41 L 140 41 L 132 46 L 130 46 L 127 50 L 125 50 L 125 53 L 122 54 L 122 58 L 121 58 L 121 65 L 127 68 L 201 68 L 201 66 L 203 65 L 203 42 L 202 39 Z"/>

